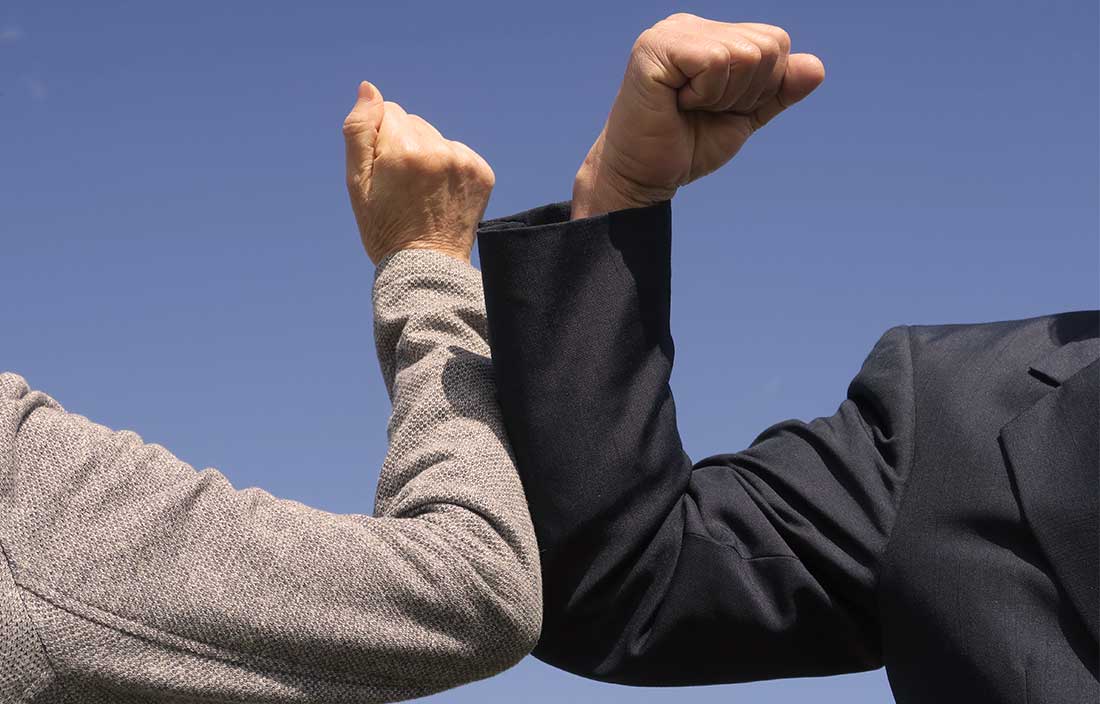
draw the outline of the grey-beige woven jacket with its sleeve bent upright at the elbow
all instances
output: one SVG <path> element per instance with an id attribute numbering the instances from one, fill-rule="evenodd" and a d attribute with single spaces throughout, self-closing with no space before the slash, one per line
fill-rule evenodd
<path id="1" fill-rule="evenodd" d="M 233 488 L 0 374 L 0 702 L 383 702 L 535 645 L 538 551 L 481 277 L 378 267 L 393 400 L 374 516 Z"/>

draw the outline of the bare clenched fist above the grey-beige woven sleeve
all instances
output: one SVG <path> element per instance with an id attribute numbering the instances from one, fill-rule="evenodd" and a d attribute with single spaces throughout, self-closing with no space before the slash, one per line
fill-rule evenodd
<path id="1" fill-rule="evenodd" d="M 437 250 L 470 261 L 495 177 L 476 152 L 383 101 L 372 84 L 343 124 L 348 194 L 367 255 Z"/>

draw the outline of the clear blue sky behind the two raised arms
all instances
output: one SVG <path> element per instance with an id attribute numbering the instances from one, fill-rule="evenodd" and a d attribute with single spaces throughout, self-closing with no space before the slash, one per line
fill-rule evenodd
<path id="1" fill-rule="evenodd" d="M 684 444 L 833 413 L 898 323 L 1094 308 L 1098 8 L 0 1 L 0 369 L 239 487 L 369 513 L 388 404 L 340 123 L 370 79 L 569 198 L 635 36 L 779 24 L 827 78 L 673 204 Z M 883 702 L 882 671 L 693 690 L 528 658 L 439 702 Z"/>

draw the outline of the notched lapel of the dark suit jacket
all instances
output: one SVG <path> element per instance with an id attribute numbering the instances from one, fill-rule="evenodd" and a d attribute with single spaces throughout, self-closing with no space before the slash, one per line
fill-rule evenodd
<path id="1" fill-rule="evenodd" d="M 1065 344 L 1031 373 L 1054 389 L 1001 430 L 1024 518 L 1086 628 L 1100 640 L 1100 340 Z"/>

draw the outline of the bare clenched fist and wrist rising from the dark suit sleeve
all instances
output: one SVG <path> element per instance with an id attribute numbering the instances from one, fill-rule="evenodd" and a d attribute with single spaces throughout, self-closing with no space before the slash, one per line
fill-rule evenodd
<path id="1" fill-rule="evenodd" d="M 573 218 L 648 206 L 733 158 L 745 141 L 825 79 L 768 24 L 673 14 L 630 52 L 607 123 L 573 186 Z"/>

